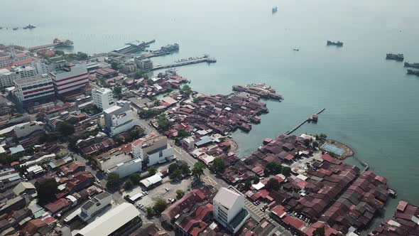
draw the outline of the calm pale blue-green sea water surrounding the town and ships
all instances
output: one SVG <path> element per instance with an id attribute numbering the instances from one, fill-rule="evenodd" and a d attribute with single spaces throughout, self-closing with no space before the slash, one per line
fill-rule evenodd
<path id="1" fill-rule="evenodd" d="M 271 112 L 250 134 L 234 134 L 242 156 L 325 107 L 318 124 L 296 133 L 324 132 L 349 144 L 400 199 L 419 205 L 419 77 L 384 60 L 393 52 L 419 63 L 418 7 L 415 0 L 3 0 L 0 26 L 37 28 L 1 30 L 0 43 L 69 38 L 87 53 L 152 38 L 151 48 L 180 43 L 179 53 L 155 64 L 208 53 L 216 64 L 178 68 L 194 90 L 227 94 L 232 85 L 266 82 L 285 96 L 267 102 Z M 327 40 L 344 47 L 326 47 Z"/>

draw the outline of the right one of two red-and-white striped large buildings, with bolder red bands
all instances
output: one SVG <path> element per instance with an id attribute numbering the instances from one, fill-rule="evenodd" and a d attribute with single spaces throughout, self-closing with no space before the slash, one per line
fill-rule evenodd
<path id="1" fill-rule="evenodd" d="M 50 72 L 57 95 L 79 90 L 89 83 L 89 73 L 86 65 L 75 65 Z"/>

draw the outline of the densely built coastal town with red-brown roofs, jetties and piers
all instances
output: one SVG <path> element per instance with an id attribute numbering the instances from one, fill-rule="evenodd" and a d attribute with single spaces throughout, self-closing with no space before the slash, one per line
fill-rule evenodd
<path id="1" fill-rule="evenodd" d="M 325 109 L 239 156 L 232 133 L 251 135 L 266 101 L 286 97 L 246 82 L 194 91 L 173 68 L 217 60 L 154 65 L 180 48 L 154 43 L 94 55 L 60 39 L 0 45 L 1 236 L 419 235 L 407 200 L 383 219 L 397 192 L 344 162 L 349 146 L 298 133 Z"/>

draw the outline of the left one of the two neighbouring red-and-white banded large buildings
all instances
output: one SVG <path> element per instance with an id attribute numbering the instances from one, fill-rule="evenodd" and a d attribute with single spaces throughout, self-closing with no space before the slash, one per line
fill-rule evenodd
<path id="1" fill-rule="evenodd" d="M 54 97 L 53 80 L 48 75 L 40 75 L 14 82 L 16 98 L 25 107 L 29 102 L 48 100 Z"/>

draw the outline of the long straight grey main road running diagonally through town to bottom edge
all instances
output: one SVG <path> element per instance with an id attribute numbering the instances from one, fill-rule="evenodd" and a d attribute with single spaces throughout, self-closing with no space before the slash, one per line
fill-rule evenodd
<path id="1" fill-rule="evenodd" d="M 153 127 L 151 127 L 148 124 L 147 120 L 140 119 L 140 124 L 141 124 L 141 127 L 143 127 L 143 129 L 146 130 L 146 132 L 155 132 L 156 134 L 158 134 L 158 131 L 154 129 Z M 174 140 L 169 139 L 169 143 L 171 146 L 175 147 L 175 156 L 177 157 L 177 159 L 181 161 L 186 161 L 186 163 L 190 165 L 191 167 L 194 166 L 195 163 L 198 162 L 197 159 L 193 158 L 189 153 L 187 153 L 187 151 L 185 151 L 184 149 L 178 146 L 175 146 Z M 209 171 L 208 168 L 205 168 L 204 170 L 204 177 L 202 178 L 202 181 L 207 183 L 209 186 L 213 186 L 217 190 L 222 187 L 229 188 L 228 183 L 223 181 L 221 178 L 217 178 L 214 175 L 214 173 Z M 293 236 L 291 232 L 286 230 L 282 225 L 279 225 L 279 223 L 276 222 L 275 220 L 272 220 L 271 217 L 268 215 L 268 213 L 262 212 L 258 206 L 251 203 L 249 200 L 247 200 L 247 198 L 245 200 L 244 205 L 246 205 L 246 208 L 249 210 L 251 217 L 254 218 L 256 221 L 260 222 L 263 218 L 266 218 L 268 222 L 271 222 L 273 225 L 275 225 L 275 228 L 268 235 L 276 234 L 278 236 Z"/>

